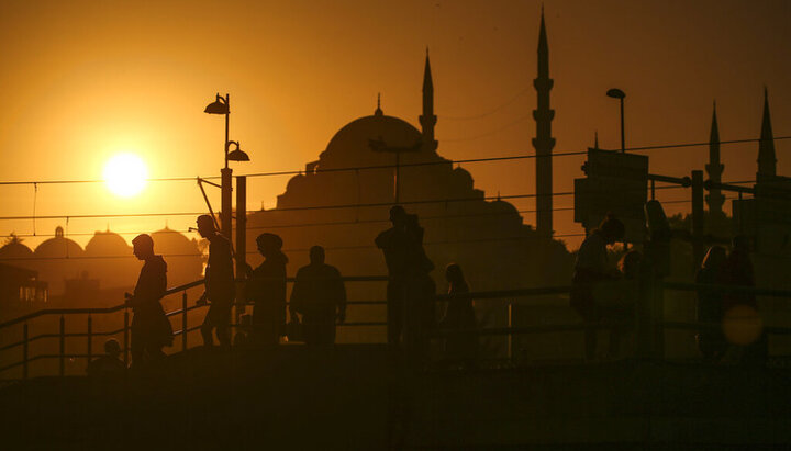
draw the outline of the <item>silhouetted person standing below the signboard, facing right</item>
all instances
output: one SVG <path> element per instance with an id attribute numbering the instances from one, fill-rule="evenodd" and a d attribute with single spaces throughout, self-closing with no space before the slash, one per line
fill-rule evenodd
<path id="1" fill-rule="evenodd" d="M 586 358 L 593 360 L 597 351 L 595 326 L 601 312 L 595 303 L 593 290 L 600 282 L 617 279 L 620 275 L 608 263 L 606 247 L 623 239 L 625 227 L 612 215 L 602 221 L 582 241 L 577 251 L 575 273 L 571 280 L 570 304 L 586 324 Z"/>

